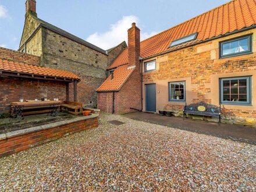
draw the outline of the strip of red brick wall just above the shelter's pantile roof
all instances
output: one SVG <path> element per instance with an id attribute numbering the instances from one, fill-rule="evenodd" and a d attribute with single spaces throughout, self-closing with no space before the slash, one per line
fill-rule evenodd
<path id="1" fill-rule="evenodd" d="M 19 51 L 13 51 L 11 49 L 6 49 L 0 47 L 0 58 L 8 61 L 14 61 L 19 63 L 26 63 L 29 65 L 40 66 L 40 57 L 30 54 L 23 54 Z"/>

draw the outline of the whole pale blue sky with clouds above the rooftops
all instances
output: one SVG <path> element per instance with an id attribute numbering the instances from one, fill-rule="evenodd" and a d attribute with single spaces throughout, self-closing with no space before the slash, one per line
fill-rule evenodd
<path id="1" fill-rule="evenodd" d="M 24 25 L 26 0 L 0 0 L 0 47 L 17 49 Z M 229 0 L 37 0 L 37 14 L 98 47 L 127 41 L 136 22 L 145 39 L 200 15 Z"/>

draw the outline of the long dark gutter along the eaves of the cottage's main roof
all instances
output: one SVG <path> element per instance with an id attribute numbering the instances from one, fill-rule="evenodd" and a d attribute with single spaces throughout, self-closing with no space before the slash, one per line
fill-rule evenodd
<path id="1" fill-rule="evenodd" d="M 187 48 L 187 47 L 192 47 L 192 46 L 194 46 L 194 45 L 198 45 L 198 44 L 201 44 L 201 43 L 203 43 L 203 42 L 208 42 L 208 41 L 216 40 L 216 39 L 218 39 L 218 38 L 226 37 L 226 36 L 228 36 L 228 35 L 233 35 L 233 34 L 240 33 L 240 32 L 243 32 L 243 31 L 250 30 L 250 29 L 254 29 L 254 28 L 256 28 L 256 24 L 253 24 L 253 26 L 246 27 L 246 28 L 243 28 L 243 29 L 240 29 L 240 30 L 232 31 L 232 32 L 230 32 L 230 33 L 226 33 L 226 34 L 219 35 L 219 36 L 216 36 L 216 37 L 208 38 L 207 40 L 199 41 L 199 42 L 196 42 L 196 43 L 191 44 L 191 45 L 187 45 L 187 46 L 180 47 L 180 48 L 177 48 L 177 49 L 173 49 L 173 50 L 170 50 L 170 51 L 165 51 L 165 52 L 162 52 L 162 53 L 157 54 L 157 55 L 148 56 L 147 58 L 143 58 L 142 61 L 145 60 L 145 59 L 154 58 L 155 56 L 168 54 L 169 52 L 177 51 L 177 50 L 180 50 L 180 49 L 183 49 L 183 48 Z"/>

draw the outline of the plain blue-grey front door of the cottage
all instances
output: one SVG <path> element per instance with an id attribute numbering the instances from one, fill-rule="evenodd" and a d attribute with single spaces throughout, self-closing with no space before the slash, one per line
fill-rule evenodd
<path id="1" fill-rule="evenodd" d="M 156 112 L 156 92 L 155 92 L 155 84 L 146 84 L 145 85 L 145 108 L 146 111 Z"/>

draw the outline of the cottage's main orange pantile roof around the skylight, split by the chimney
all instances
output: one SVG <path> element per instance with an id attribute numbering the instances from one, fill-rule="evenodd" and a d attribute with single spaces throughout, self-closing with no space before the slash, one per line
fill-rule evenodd
<path id="1" fill-rule="evenodd" d="M 147 40 L 141 41 L 141 57 L 148 58 L 166 51 L 174 51 L 178 48 L 193 45 L 197 42 L 231 33 L 255 24 L 256 1 L 233 0 L 178 24 L 175 27 L 162 31 Z M 198 33 L 196 40 L 169 48 L 173 40 L 186 37 L 193 33 Z M 116 61 L 109 66 L 109 69 L 126 64 L 128 61 L 127 56 L 128 51 L 125 49 Z"/>

